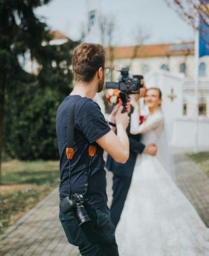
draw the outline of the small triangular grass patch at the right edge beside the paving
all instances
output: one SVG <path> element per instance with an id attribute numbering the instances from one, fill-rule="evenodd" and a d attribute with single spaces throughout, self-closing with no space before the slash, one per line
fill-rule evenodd
<path id="1" fill-rule="evenodd" d="M 187 154 L 209 178 L 209 152 Z"/>

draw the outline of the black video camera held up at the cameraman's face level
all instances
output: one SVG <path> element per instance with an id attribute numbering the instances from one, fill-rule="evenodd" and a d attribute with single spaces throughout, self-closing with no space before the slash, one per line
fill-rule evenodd
<path id="1" fill-rule="evenodd" d="M 118 89 L 120 90 L 119 97 L 123 102 L 123 106 L 127 104 L 128 94 L 139 94 L 139 89 L 143 88 L 143 76 L 135 75 L 132 77 L 128 76 L 129 68 L 121 68 L 118 70 L 121 72 L 121 77 L 118 83 L 106 82 L 105 88 L 107 89 Z"/>

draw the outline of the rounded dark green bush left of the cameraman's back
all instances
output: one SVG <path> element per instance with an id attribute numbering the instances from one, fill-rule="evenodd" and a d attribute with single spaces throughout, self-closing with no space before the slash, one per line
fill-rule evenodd
<path id="1" fill-rule="evenodd" d="M 56 110 L 63 99 L 57 91 L 26 86 L 7 100 L 4 150 L 22 159 L 58 159 Z"/>

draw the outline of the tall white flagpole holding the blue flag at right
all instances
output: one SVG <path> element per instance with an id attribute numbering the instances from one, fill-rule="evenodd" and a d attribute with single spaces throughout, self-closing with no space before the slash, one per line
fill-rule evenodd
<path id="1" fill-rule="evenodd" d="M 199 1 L 198 1 L 199 2 Z M 198 131 L 199 131 L 199 15 L 196 17 L 194 45 L 194 104 L 195 104 L 195 132 L 194 152 L 198 152 Z"/>

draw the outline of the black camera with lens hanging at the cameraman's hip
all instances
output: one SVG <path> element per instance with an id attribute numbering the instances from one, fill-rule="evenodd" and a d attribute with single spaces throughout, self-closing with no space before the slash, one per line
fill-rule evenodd
<path id="1" fill-rule="evenodd" d="M 71 196 L 71 199 L 66 196 L 65 199 L 61 201 L 60 209 L 63 213 L 68 213 L 70 211 L 74 212 L 75 217 L 79 221 L 79 226 L 83 223 L 91 220 L 84 208 L 84 198 L 82 195 L 75 193 Z"/>

